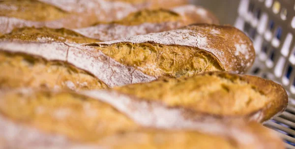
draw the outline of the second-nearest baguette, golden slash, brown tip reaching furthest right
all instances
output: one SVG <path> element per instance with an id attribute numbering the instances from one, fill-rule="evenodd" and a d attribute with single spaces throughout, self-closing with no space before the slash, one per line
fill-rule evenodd
<path id="1" fill-rule="evenodd" d="M 288 95 L 281 85 L 256 76 L 225 72 L 159 79 L 109 91 L 90 91 L 90 94 L 118 106 L 128 114 L 134 110 L 156 111 L 156 105 L 160 104 L 188 110 L 183 115 L 191 119 L 245 118 L 262 122 L 280 114 L 288 104 Z M 141 106 L 130 107 L 129 110 L 129 102 L 133 101 Z M 154 108 L 150 103 L 154 103 Z M 146 104 L 150 106 L 145 107 Z"/>

